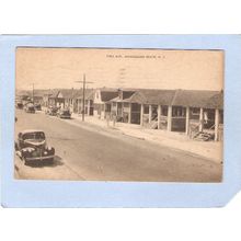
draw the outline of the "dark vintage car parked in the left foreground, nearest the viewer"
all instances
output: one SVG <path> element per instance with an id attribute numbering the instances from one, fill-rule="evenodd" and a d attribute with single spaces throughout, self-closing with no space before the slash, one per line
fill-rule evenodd
<path id="1" fill-rule="evenodd" d="M 51 164 L 55 158 L 55 148 L 47 146 L 43 130 L 27 129 L 19 133 L 15 150 L 26 165 Z"/>

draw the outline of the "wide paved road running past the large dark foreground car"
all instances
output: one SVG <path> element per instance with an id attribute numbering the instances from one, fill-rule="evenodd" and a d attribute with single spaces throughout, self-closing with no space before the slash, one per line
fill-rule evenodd
<path id="1" fill-rule="evenodd" d="M 26 167 L 15 156 L 15 177 L 35 180 L 220 182 L 222 165 L 77 119 L 16 110 L 15 136 L 43 129 L 55 147 L 53 165 Z"/>

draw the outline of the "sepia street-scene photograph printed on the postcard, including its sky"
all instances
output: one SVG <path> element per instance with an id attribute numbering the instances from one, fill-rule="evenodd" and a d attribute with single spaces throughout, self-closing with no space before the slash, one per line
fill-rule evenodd
<path id="1" fill-rule="evenodd" d="M 15 48 L 14 179 L 222 182 L 225 51 Z"/>

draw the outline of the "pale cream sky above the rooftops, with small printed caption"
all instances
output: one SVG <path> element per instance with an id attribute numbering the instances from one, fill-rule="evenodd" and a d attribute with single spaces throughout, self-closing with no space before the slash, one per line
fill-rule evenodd
<path id="1" fill-rule="evenodd" d="M 16 48 L 16 89 L 223 89 L 221 50 Z"/>

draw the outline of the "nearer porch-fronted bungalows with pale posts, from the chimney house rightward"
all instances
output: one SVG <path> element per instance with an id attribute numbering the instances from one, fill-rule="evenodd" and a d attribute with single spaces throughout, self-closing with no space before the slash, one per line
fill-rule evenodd
<path id="1" fill-rule="evenodd" d="M 222 139 L 222 91 L 119 90 L 102 110 L 103 118 L 190 136 L 205 131 Z"/>

